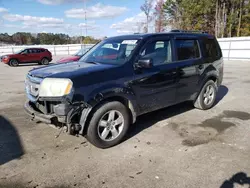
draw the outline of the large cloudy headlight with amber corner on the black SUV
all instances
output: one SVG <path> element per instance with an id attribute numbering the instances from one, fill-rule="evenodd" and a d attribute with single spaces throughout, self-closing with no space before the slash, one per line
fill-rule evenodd
<path id="1" fill-rule="evenodd" d="M 62 97 L 71 94 L 73 82 L 67 78 L 45 78 L 40 86 L 40 97 Z"/>

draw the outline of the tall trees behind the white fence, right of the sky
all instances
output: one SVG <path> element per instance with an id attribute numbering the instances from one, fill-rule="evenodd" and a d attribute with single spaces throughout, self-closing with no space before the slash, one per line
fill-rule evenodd
<path id="1" fill-rule="evenodd" d="M 217 37 L 250 35 L 250 0 L 166 0 L 167 26 L 203 30 Z"/>

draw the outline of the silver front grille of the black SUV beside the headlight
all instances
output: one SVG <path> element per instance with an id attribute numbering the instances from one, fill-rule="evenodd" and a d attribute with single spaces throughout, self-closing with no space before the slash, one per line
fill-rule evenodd
<path id="1" fill-rule="evenodd" d="M 38 98 L 39 88 L 42 80 L 43 80 L 42 78 L 38 78 L 30 74 L 28 74 L 26 77 L 25 90 L 28 98 L 33 102 L 36 101 Z"/>

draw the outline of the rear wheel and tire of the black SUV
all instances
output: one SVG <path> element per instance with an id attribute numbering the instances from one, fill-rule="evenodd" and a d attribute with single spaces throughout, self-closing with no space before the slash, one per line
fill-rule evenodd
<path id="1" fill-rule="evenodd" d="M 218 88 L 213 80 L 208 80 L 202 87 L 199 96 L 194 102 L 194 106 L 201 110 L 207 110 L 213 107 Z"/>

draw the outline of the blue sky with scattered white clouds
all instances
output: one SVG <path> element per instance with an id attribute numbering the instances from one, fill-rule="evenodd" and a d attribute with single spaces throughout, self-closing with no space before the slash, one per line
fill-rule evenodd
<path id="1" fill-rule="evenodd" d="M 0 0 L 0 33 L 52 32 L 96 38 L 137 33 L 146 22 L 140 10 L 143 3 L 144 0 Z M 150 30 L 153 31 L 152 25 Z"/>

